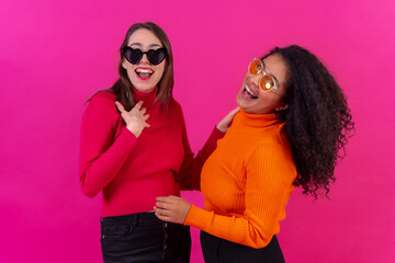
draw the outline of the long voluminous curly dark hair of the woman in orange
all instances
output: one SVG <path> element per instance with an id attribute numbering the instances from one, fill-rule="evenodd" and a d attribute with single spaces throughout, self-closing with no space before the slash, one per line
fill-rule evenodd
<path id="1" fill-rule="evenodd" d="M 347 98 L 319 59 L 297 45 L 273 48 L 263 58 L 278 54 L 287 66 L 289 107 L 282 112 L 296 163 L 295 185 L 317 198 L 329 193 L 335 165 L 346 155 L 345 146 L 354 132 Z"/>

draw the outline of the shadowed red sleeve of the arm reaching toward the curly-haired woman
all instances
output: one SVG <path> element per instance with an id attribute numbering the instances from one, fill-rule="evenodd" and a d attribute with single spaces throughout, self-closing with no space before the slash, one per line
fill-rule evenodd
<path id="1" fill-rule="evenodd" d="M 223 132 L 214 127 L 207 141 L 198 152 L 196 157 L 194 157 L 188 140 L 185 123 L 183 123 L 182 144 L 185 155 L 180 171 L 177 174 L 177 181 L 179 182 L 181 190 L 200 190 L 203 164 L 215 150 L 217 140 L 223 138 L 224 135 Z"/>

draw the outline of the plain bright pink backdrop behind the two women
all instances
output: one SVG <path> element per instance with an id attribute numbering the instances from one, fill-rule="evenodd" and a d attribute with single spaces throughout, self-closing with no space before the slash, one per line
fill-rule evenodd
<path id="1" fill-rule="evenodd" d="M 292 195 L 279 235 L 286 262 L 395 262 L 393 0 L 55 2 L 0 2 L 0 262 L 101 262 L 101 199 L 78 184 L 83 102 L 114 82 L 126 30 L 147 20 L 172 43 L 194 150 L 236 106 L 253 56 L 294 43 L 317 54 L 357 134 L 331 201 Z M 196 230 L 191 262 L 203 262 Z"/>

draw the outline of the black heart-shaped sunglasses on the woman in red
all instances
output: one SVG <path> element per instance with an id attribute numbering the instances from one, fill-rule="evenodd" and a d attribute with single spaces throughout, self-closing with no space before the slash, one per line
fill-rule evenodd
<path id="1" fill-rule="evenodd" d="M 142 60 L 144 54 L 147 55 L 148 61 L 153 65 L 160 64 L 167 56 L 167 49 L 165 47 L 159 49 L 149 49 L 148 52 L 144 53 L 138 48 L 134 49 L 129 46 L 123 46 L 122 53 L 126 60 L 133 65 L 138 64 Z"/>

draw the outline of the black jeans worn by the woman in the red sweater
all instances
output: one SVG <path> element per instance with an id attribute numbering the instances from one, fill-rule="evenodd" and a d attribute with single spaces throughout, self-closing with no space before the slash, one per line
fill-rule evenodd
<path id="1" fill-rule="evenodd" d="M 154 213 L 101 218 L 103 261 L 189 262 L 189 227 L 159 220 Z"/>

